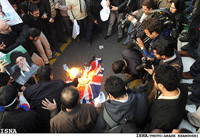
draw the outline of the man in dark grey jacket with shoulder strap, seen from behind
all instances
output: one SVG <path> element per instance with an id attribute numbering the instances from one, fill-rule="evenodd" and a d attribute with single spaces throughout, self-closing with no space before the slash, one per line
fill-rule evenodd
<path id="1" fill-rule="evenodd" d="M 133 124 L 136 124 L 137 128 L 142 128 L 148 113 L 147 97 L 145 95 L 137 96 L 138 94 L 130 89 L 126 90 L 123 80 L 115 76 L 106 80 L 105 90 L 109 100 L 103 104 L 93 131 L 107 132 L 112 128 L 104 118 L 104 108 L 117 124 L 121 125 L 124 119 L 129 118 Z M 133 131 L 130 130 L 130 132 Z"/>

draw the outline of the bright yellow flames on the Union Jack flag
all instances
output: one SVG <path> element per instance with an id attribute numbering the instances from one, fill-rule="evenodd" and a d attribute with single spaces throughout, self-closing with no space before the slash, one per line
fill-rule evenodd
<path id="1" fill-rule="evenodd" d="M 78 78 L 79 85 L 88 84 L 92 80 L 93 76 L 95 75 L 94 70 L 90 71 L 90 70 L 85 69 L 83 71 L 80 68 L 71 68 L 67 70 L 67 74 L 69 75 L 70 79 L 74 79 L 76 75 L 80 72 L 82 73 L 82 75 L 80 78 Z"/>

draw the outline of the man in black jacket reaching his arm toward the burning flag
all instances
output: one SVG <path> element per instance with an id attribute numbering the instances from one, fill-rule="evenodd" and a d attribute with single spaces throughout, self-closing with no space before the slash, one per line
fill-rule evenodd
<path id="1" fill-rule="evenodd" d="M 42 108 L 42 100 L 45 98 L 52 102 L 56 100 L 57 108 L 60 109 L 60 94 L 63 88 L 69 85 L 77 86 L 78 80 L 75 79 L 72 83 L 64 83 L 62 80 L 53 80 L 52 69 L 49 66 L 43 66 L 38 69 L 37 75 L 39 83 L 27 87 L 24 91 L 24 97 L 32 106 L 32 109 L 37 111 L 41 120 L 41 132 L 50 132 L 50 112 Z"/>

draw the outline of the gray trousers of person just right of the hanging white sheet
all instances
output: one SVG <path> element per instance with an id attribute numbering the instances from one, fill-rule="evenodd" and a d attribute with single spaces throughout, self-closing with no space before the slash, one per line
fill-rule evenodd
<path id="1" fill-rule="evenodd" d="M 111 35 L 112 33 L 112 28 L 113 28 L 113 24 L 115 22 L 115 19 L 117 18 L 117 23 L 123 19 L 123 13 L 118 13 L 118 11 L 110 11 L 110 20 L 109 20 L 109 26 L 108 26 L 108 32 L 107 32 L 107 36 Z M 122 32 L 122 28 L 121 25 L 118 25 L 118 38 L 122 38 L 123 37 L 123 32 Z"/>

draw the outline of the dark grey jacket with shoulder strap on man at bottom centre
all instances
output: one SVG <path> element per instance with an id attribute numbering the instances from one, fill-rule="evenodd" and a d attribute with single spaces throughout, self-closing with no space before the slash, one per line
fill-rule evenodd
<path id="1" fill-rule="evenodd" d="M 134 115 L 134 123 L 137 127 L 142 128 L 148 113 L 148 99 L 146 95 L 141 95 L 141 93 L 136 94 L 136 92 L 131 89 L 128 89 L 127 93 L 128 101 L 126 103 L 109 100 L 104 103 L 104 107 L 107 109 L 108 114 L 115 122 L 122 124 L 123 119 Z M 108 124 L 103 119 L 102 108 L 93 132 L 105 132 L 108 127 Z"/>

